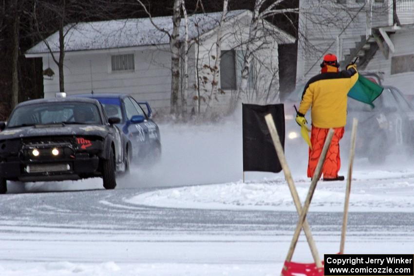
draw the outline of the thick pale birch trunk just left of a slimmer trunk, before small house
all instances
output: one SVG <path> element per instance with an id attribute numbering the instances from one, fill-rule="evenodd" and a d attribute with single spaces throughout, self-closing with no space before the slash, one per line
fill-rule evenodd
<path id="1" fill-rule="evenodd" d="M 171 49 L 171 114 L 178 114 L 178 92 L 180 90 L 180 24 L 181 0 L 174 0 L 172 33 L 169 41 Z"/>

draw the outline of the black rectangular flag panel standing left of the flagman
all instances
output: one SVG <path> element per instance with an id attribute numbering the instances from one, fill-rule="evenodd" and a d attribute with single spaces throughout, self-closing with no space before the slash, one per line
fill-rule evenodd
<path id="1" fill-rule="evenodd" d="M 280 172 L 282 166 L 273 146 L 264 116 L 272 114 L 284 148 L 283 104 L 243 104 L 243 171 Z"/>

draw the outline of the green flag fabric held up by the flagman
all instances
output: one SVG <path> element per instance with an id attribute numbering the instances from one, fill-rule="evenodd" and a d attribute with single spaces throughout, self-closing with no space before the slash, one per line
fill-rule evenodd
<path id="1" fill-rule="evenodd" d="M 382 93 L 382 90 L 384 90 L 383 87 L 359 74 L 358 81 L 348 92 L 348 96 L 374 108 L 373 101 Z"/>

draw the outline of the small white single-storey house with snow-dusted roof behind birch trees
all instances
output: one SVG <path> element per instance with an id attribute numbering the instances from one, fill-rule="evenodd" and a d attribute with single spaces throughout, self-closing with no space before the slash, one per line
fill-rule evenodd
<path id="1" fill-rule="evenodd" d="M 188 109 L 203 109 L 204 99 L 211 88 L 212 75 L 209 68 L 214 66 L 220 17 L 221 13 L 208 13 L 188 18 Z M 222 108 L 228 107 L 229 102 L 234 100 L 251 17 L 252 13 L 248 10 L 230 11 L 226 16 L 219 77 L 222 93 L 217 102 Z M 152 19 L 158 27 L 169 32 L 172 30 L 171 17 Z M 275 98 L 279 91 L 278 44 L 295 42 L 294 37 L 267 21 L 263 21 L 262 25 L 271 30 L 273 36 L 261 38 L 263 41 L 260 44 L 265 47 L 258 48 L 254 55 L 249 84 L 256 92 L 245 95 L 245 98 L 253 99 L 257 96 L 257 91 L 267 93 L 260 97 Z M 68 25 L 65 28 L 67 30 L 70 27 Z M 184 37 L 184 30 L 183 19 L 180 39 Z M 58 33 L 46 41 L 58 56 Z M 54 97 L 55 92 L 59 91 L 58 69 L 46 44 L 39 42 L 25 55 L 29 58 L 41 57 L 43 69 L 51 68 L 55 72 L 54 77 L 44 78 L 45 97 Z M 65 92 L 128 93 L 137 100 L 149 101 L 156 111 L 167 111 L 171 87 L 170 55 L 169 37 L 158 31 L 149 18 L 78 23 L 65 37 Z"/>

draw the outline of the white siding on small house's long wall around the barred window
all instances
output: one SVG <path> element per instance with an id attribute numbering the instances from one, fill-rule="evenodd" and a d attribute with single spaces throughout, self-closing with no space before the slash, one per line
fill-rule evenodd
<path id="1" fill-rule="evenodd" d="M 91 53 L 67 53 L 64 61 L 65 92 L 79 93 L 127 93 L 137 100 L 149 101 L 154 110 L 169 110 L 171 73 L 168 51 L 159 49 L 136 49 L 118 54 L 134 54 L 133 72 L 111 72 L 111 55 Z M 55 72 L 53 80 L 44 80 L 45 97 L 54 97 L 59 91 L 57 66 L 49 60 Z M 92 83 L 91 83 L 92 65 Z M 47 56 L 43 67 L 48 67 Z"/>

